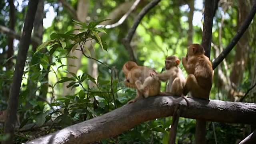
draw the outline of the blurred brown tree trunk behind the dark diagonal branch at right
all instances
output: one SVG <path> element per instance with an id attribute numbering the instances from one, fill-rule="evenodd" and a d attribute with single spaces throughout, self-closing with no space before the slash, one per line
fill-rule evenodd
<path id="1" fill-rule="evenodd" d="M 246 20 L 246 17 L 249 14 L 250 9 L 248 8 L 248 2 L 238 0 L 238 27 L 240 27 L 243 22 Z M 232 72 L 230 74 L 230 80 L 232 84 L 234 84 L 236 87 L 238 84 L 241 83 L 241 80 L 243 78 L 244 70 L 245 70 L 245 64 L 248 60 L 248 52 L 249 52 L 249 31 L 246 30 L 244 32 L 244 35 L 241 37 L 241 39 L 238 41 L 238 44 L 236 46 L 236 55 L 234 58 L 234 66 L 232 68 Z M 228 98 L 231 101 L 234 101 L 235 98 L 233 94 L 229 94 Z"/>

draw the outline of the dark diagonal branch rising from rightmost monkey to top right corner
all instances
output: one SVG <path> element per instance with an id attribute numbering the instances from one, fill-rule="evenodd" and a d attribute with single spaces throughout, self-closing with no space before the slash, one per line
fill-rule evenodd
<path id="1" fill-rule="evenodd" d="M 230 44 L 225 48 L 223 52 L 212 62 L 212 67 L 215 69 L 223 60 L 226 58 L 226 56 L 230 53 L 230 51 L 236 46 L 238 40 L 243 36 L 246 29 L 249 27 L 250 23 L 252 22 L 254 15 L 256 13 L 256 2 L 254 0 L 254 5 L 252 6 L 252 10 L 250 11 L 249 15 L 247 16 L 246 20 L 242 24 L 242 26 L 239 28 L 238 32 L 236 33 L 236 36 L 232 39 Z"/>

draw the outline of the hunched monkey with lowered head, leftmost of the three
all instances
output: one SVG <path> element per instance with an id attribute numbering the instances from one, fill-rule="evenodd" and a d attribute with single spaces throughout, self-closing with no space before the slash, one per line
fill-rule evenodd
<path id="1" fill-rule="evenodd" d="M 156 72 L 146 66 L 138 66 L 135 62 L 128 61 L 124 64 L 122 71 L 125 75 L 124 84 L 127 87 L 136 89 L 136 98 L 130 100 L 128 104 L 136 102 L 142 98 L 156 96 L 160 93 L 161 82 L 157 78 L 151 77 L 151 72 Z"/>

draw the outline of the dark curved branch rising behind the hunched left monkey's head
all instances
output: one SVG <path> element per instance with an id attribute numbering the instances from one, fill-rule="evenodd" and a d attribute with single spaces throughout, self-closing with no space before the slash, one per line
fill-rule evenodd
<path id="1" fill-rule="evenodd" d="M 154 6 L 156 6 L 161 0 L 152 0 L 149 4 L 147 4 L 142 10 L 141 12 L 138 14 L 138 16 L 136 17 L 134 24 L 132 26 L 132 28 L 129 30 L 127 36 L 123 39 L 123 44 L 126 48 L 126 50 L 129 52 L 130 54 L 130 58 L 132 61 L 136 62 L 136 58 L 134 56 L 132 47 L 130 46 L 130 42 L 132 41 L 132 37 L 134 36 L 134 33 L 138 27 L 138 25 L 140 24 L 140 21 L 142 20 L 142 18 L 152 9 L 154 8 Z"/>

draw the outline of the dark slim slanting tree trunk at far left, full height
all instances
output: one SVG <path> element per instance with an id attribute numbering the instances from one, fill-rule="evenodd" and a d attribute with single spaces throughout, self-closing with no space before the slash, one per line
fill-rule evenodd
<path id="1" fill-rule="evenodd" d="M 7 118 L 4 125 L 4 134 L 9 134 L 10 137 L 3 144 L 12 144 L 14 136 L 15 122 L 17 120 L 17 109 L 19 102 L 20 86 L 22 81 L 23 70 L 28 54 L 28 48 L 30 44 L 31 32 L 33 28 L 34 18 L 38 0 L 30 0 L 28 2 L 28 11 L 25 18 L 24 28 L 22 30 L 22 36 L 20 40 L 20 48 L 18 50 L 18 56 L 16 59 L 14 76 L 12 80 L 12 86 L 10 88 L 10 96 L 7 107 Z"/>

